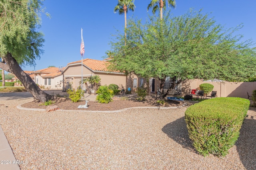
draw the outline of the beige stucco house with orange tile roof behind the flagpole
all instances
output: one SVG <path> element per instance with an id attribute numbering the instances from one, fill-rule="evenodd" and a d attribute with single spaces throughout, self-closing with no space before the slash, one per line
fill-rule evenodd
<path id="1" fill-rule="evenodd" d="M 68 63 L 66 68 L 63 70 L 62 74 L 64 76 L 64 89 L 72 88 L 77 89 L 81 86 L 80 82 L 82 79 L 82 70 L 83 78 L 88 78 L 90 76 L 98 75 L 100 77 L 99 85 L 109 85 L 116 84 L 119 86 L 119 89 L 125 89 L 130 87 L 131 91 L 142 86 L 146 83 L 144 78 L 140 78 L 136 75 L 128 75 L 123 72 L 113 71 L 108 69 L 108 60 L 94 60 L 94 59 L 83 59 L 83 68 L 81 67 L 81 60 Z M 88 86 L 92 85 L 88 83 Z M 83 85 L 83 90 L 86 91 L 85 86 Z"/>

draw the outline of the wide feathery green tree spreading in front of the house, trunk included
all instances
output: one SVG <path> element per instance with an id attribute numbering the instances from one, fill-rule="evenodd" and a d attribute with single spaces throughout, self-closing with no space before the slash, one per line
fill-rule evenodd
<path id="1" fill-rule="evenodd" d="M 240 27 L 226 30 L 201 11 L 178 17 L 169 13 L 163 19 L 152 16 L 145 24 L 129 20 L 128 25 L 126 45 L 122 35 L 111 42 L 110 67 L 158 78 L 162 98 L 186 79 L 245 81 L 255 76 L 252 42 L 233 35 Z M 176 81 L 164 91 L 167 77 Z"/>

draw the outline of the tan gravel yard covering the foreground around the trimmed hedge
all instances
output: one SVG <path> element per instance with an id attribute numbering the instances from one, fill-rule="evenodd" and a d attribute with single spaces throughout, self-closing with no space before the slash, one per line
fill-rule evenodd
<path id="1" fill-rule="evenodd" d="M 256 169 L 256 109 L 250 108 L 236 145 L 224 158 L 199 155 L 184 112 L 129 109 L 119 113 L 27 111 L 28 100 L 1 101 L 0 124 L 21 170 Z M 8 106 L 8 107 L 6 107 Z"/>

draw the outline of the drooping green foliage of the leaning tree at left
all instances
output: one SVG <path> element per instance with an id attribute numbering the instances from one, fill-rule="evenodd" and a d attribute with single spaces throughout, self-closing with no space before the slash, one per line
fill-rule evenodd
<path id="1" fill-rule="evenodd" d="M 40 27 L 42 0 L 0 2 L 0 56 L 10 53 L 18 64 L 34 64 L 43 52 Z"/>

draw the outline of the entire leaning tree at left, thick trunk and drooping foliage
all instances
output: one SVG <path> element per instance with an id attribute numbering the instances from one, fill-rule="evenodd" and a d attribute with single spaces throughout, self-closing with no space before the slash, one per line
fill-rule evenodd
<path id="1" fill-rule="evenodd" d="M 46 94 L 20 67 L 33 65 L 43 53 L 43 34 L 40 26 L 42 0 L 0 1 L 0 68 L 11 72 L 22 82 L 34 98 L 46 102 L 53 96 Z"/>

